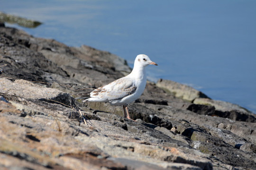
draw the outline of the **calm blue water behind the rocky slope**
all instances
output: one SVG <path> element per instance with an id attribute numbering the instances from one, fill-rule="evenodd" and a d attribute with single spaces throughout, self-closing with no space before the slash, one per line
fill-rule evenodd
<path id="1" fill-rule="evenodd" d="M 42 21 L 36 37 L 127 59 L 144 53 L 149 79 L 170 79 L 256 113 L 256 0 L 0 0 Z"/>

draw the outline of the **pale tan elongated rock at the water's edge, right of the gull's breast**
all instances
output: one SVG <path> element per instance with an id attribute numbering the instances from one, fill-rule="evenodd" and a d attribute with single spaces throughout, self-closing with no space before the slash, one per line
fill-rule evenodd
<path id="1" fill-rule="evenodd" d="M 159 79 L 156 86 L 163 88 L 165 91 L 173 93 L 175 97 L 192 102 L 196 98 L 208 98 L 204 93 L 193 89 L 190 86 L 183 85 L 171 80 Z"/>

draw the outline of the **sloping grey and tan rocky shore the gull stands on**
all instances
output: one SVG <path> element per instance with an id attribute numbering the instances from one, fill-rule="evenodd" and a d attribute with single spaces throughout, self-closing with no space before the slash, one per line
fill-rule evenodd
<path id="1" fill-rule="evenodd" d="M 74 100 L 130 71 L 110 52 L 2 24 L 0 169 L 256 169 L 256 115 L 186 85 L 147 82 L 128 106 L 136 122 L 121 107 Z"/>

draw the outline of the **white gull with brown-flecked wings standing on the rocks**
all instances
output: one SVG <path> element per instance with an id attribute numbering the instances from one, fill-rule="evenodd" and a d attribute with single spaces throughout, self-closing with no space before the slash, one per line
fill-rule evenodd
<path id="1" fill-rule="evenodd" d="M 82 102 L 108 102 L 110 105 L 123 106 L 124 117 L 131 119 L 127 105 L 143 93 L 146 86 L 146 66 L 157 64 L 145 54 L 137 55 L 132 72 L 108 85 L 101 86 L 90 93 L 90 98 Z M 132 119 L 131 119 L 132 120 Z"/>

